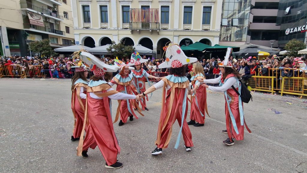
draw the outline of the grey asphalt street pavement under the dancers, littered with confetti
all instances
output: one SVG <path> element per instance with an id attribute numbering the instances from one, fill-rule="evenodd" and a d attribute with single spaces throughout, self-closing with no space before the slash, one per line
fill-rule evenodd
<path id="1" fill-rule="evenodd" d="M 186 152 L 175 122 L 169 147 L 152 156 L 161 110 L 161 93 L 153 92 L 144 117 L 123 126 L 114 124 L 121 153 L 120 169 L 107 169 L 98 147 L 88 158 L 76 156 L 69 79 L 0 79 L 0 173 L 302 173 L 307 172 L 307 101 L 291 96 L 253 92 L 244 103 L 245 130 L 235 145 L 227 139 L 223 93 L 207 91 L 208 111 L 203 127 L 189 126 L 194 147 Z M 114 87 L 115 88 L 115 87 Z M 117 101 L 112 101 L 115 116 Z M 274 109 L 281 114 L 276 114 Z M 189 121 L 189 111 L 187 121 Z"/>

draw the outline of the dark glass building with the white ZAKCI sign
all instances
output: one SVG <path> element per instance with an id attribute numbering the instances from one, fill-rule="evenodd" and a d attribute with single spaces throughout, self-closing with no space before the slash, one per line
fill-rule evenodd
<path id="1" fill-rule="evenodd" d="M 276 25 L 280 26 L 279 47 L 284 47 L 293 38 L 305 41 L 307 0 L 280 0 Z"/>

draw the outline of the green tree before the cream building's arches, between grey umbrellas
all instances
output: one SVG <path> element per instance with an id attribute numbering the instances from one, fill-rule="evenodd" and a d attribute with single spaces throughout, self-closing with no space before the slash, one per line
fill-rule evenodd
<path id="1" fill-rule="evenodd" d="M 109 48 L 107 48 L 108 53 L 112 53 L 115 57 L 121 58 L 127 58 L 130 57 L 131 54 L 134 52 L 133 46 L 125 46 L 125 43 L 118 43 L 115 44 L 115 41 L 112 41 Z"/>

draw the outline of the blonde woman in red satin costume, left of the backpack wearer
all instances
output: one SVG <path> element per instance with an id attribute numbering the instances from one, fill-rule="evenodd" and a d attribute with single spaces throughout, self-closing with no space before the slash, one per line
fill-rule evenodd
<path id="1" fill-rule="evenodd" d="M 191 95 L 191 111 L 190 122 L 188 125 L 194 125 L 195 127 L 204 126 L 205 112 L 208 114 L 207 108 L 207 93 L 206 87 L 200 86 L 200 82 L 197 79 L 206 79 L 204 75 L 203 66 L 199 62 L 195 62 L 192 67 L 193 76 L 191 77 L 192 92 Z M 196 123 L 197 122 L 197 123 Z"/>

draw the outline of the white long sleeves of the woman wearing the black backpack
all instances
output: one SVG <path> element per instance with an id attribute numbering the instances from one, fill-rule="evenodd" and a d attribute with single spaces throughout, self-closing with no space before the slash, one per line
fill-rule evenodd
<path id="1" fill-rule="evenodd" d="M 219 83 L 219 81 L 221 80 L 221 76 L 215 79 L 205 79 L 204 83 L 205 84 L 217 84 Z M 237 79 L 235 77 L 230 77 L 226 80 L 226 82 L 223 84 L 223 86 L 209 86 L 208 89 L 212 90 L 212 91 L 218 91 L 218 92 L 224 92 L 227 89 L 232 88 L 231 85 L 233 85 L 235 88 L 238 88 L 238 83 L 237 83 Z"/>

